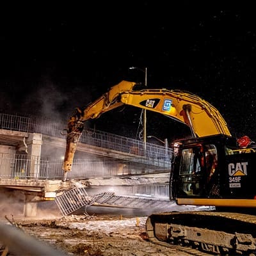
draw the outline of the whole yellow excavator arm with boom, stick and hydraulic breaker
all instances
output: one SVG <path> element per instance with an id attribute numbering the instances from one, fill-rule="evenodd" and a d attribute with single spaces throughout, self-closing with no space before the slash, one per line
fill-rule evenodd
<path id="1" fill-rule="evenodd" d="M 76 113 L 70 117 L 67 125 L 64 180 L 67 172 L 72 170 L 74 153 L 83 132 L 84 122 L 99 118 L 102 113 L 122 105 L 147 109 L 182 122 L 190 127 L 194 138 L 214 134 L 231 136 L 219 111 L 197 95 L 179 90 L 133 90 L 135 85 L 133 82 L 122 81 L 86 108 L 76 108 Z"/>

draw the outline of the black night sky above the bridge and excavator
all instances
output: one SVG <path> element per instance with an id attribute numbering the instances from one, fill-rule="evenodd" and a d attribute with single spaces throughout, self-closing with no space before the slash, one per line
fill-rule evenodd
<path id="1" fill-rule="evenodd" d="M 68 118 L 127 79 L 188 90 L 223 115 L 233 135 L 256 140 L 256 15 L 248 1 L 94 1 L 2 8 L 1 113 Z M 96 129 L 134 136 L 140 109 L 115 109 Z M 148 132 L 180 124 L 148 115 Z M 126 128 L 125 128 L 126 127 Z M 185 129 L 186 132 L 186 129 Z M 124 135 L 124 134 L 121 134 Z"/>

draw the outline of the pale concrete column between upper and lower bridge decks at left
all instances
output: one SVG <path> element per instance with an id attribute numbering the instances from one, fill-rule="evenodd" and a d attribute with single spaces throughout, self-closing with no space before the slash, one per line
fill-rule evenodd
<path id="1" fill-rule="evenodd" d="M 31 178 L 38 178 L 40 170 L 42 134 L 30 133 L 26 144 L 28 146 L 28 155 L 31 156 L 28 176 Z"/>

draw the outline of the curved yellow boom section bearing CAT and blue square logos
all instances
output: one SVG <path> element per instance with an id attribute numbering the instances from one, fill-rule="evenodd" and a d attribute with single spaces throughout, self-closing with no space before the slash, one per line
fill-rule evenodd
<path id="1" fill-rule="evenodd" d="M 194 138 L 214 134 L 230 136 L 219 111 L 188 92 L 152 89 L 120 93 L 120 102 L 160 113 L 190 127 Z"/>

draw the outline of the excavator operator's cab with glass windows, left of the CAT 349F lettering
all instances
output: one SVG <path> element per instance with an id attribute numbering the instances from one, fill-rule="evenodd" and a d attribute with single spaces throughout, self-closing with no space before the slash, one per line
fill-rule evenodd
<path id="1" fill-rule="evenodd" d="M 215 190 L 209 191 L 207 184 L 217 184 L 214 178 L 218 175 L 218 151 L 212 143 L 192 143 L 183 147 L 176 163 L 179 161 L 179 170 L 175 174 L 175 194 L 182 196 L 195 196 L 196 198 L 209 193 L 218 195 Z M 175 166 L 175 165 L 174 165 Z M 177 174 L 178 172 L 178 174 Z M 216 178 L 215 178 L 216 179 Z M 174 182 L 173 182 L 174 183 Z M 174 185 L 174 184 L 173 184 Z"/>

